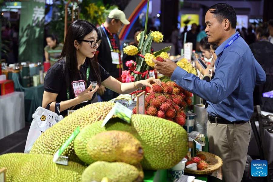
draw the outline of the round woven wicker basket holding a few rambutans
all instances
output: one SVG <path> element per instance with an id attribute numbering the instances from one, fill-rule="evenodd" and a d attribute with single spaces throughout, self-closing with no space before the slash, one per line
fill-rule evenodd
<path id="1" fill-rule="evenodd" d="M 214 155 L 212 153 L 208 153 L 208 152 L 198 152 L 198 153 L 202 153 L 206 157 L 206 161 L 210 162 L 210 163 L 208 163 L 207 170 L 188 170 L 185 167 L 185 172 L 186 173 L 190 173 L 190 174 L 211 174 L 212 172 L 219 169 L 223 165 L 223 160 L 220 157 L 218 157 L 218 156 L 216 156 L 216 155 Z M 188 156 L 189 156 L 189 159 L 191 159 L 190 152 L 188 152 Z"/>

